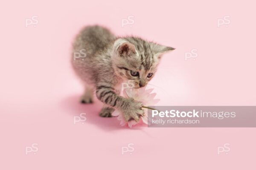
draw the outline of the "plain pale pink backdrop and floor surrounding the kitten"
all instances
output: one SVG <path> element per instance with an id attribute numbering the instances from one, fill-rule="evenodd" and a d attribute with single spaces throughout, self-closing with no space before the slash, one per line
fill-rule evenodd
<path id="1" fill-rule="evenodd" d="M 177 48 L 156 77 L 158 105 L 256 105 L 255 2 L 6 1 L 1 4 L 0 169 L 255 170 L 255 128 L 119 127 L 81 105 L 70 65 L 71 42 L 98 23 Z M 38 16 L 36 27 L 25 20 Z M 134 16 L 134 24 L 121 26 Z M 217 20 L 230 16 L 230 24 Z M 195 60 L 186 52 L 197 49 Z M 73 124 L 73 116 L 87 120 Z M 38 143 L 36 154 L 25 147 Z M 123 146 L 134 143 L 132 154 Z M 228 154 L 217 147 L 230 143 Z"/>

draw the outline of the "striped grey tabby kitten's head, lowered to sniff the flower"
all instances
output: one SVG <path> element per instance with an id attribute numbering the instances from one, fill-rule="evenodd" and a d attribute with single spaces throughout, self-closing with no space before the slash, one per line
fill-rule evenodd
<path id="1" fill-rule="evenodd" d="M 144 87 L 154 77 L 162 54 L 174 49 L 137 37 L 119 38 L 114 42 L 113 68 L 135 88 Z"/>

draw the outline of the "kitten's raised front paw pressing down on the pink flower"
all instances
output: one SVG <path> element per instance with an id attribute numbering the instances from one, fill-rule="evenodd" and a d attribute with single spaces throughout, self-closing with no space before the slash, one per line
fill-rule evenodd
<path id="1" fill-rule="evenodd" d="M 144 112 L 141 107 L 141 102 L 137 102 L 134 99 L 130 99 L 127 108 L 123 110 L 123 117 L 125 121 L 129 122 L 134 120 L 135 122 L 139 122 L 140 117 L 144 116 Z"/>

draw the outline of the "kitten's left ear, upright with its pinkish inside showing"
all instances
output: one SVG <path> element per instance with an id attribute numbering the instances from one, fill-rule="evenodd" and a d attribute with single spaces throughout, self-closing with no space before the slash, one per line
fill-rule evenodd
<path id="1" fill-rule="evenodd" d="M 129 57 L 132 54 L 137 53 L 135 46 L 131 42 L 128 42 L 122 38 L 115 41 L 114 49 L 120 57 Z"/>

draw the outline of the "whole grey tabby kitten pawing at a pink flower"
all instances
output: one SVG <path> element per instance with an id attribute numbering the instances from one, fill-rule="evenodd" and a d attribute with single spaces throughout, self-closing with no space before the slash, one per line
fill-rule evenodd
<path id="1" fill-rule="evenodd" d="M 140 88 L 154 77 L 163 53 L 172 47 L 148 42 L 138 37 L 115 37 L 101 26 L 87 26 L 73 43 L 72 65 L 85 86 L 82 103 L 91 103 L 93 92 L 104 103 L 99 115 L 111 117 L 114 109 L 122 111 L 125 121 L 138 122 L 143 116 L 142 103 L 119 96 L 122 82 L 132 80 Z"/>

